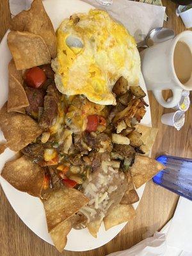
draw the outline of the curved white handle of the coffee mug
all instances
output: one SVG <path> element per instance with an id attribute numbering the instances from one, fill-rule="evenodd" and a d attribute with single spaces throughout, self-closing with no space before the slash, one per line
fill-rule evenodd
<path id="1" fill-rule="evenodd" d="M 175 107 L 182 96 L 182 89 L 172 89 L 173 97 L 170 102 L 166 102 L 166 100 L 163 99 L 162 91 L 161 90 L 153 90 L 154 96 L 156 97 L 156 100 L 163 106 L 164 108 L 173 108 Z"/>

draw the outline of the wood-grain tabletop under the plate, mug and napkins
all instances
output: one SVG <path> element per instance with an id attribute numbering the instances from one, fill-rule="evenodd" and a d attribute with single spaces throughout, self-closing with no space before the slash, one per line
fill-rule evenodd
<path id="1" fill-rule="evenodd" d="M 184 31 L 184 25 L 180 18 L 175 15 L 176 5 L 171 1 L 164 0 L 166 13 L 169 21 L 164 26 L 175 30 L 176 34 Z M 0 1 L 0 40 L 8 29 L 10 20 L 10 10 L 8 0 Z M 191 146 L 191 120 L 192 109 L 186 113 L 186 123 L 180 131 L 175 131 L 173 127 L 161 124 L 161 115 L 171 112 L 172 109 L 164 109 L 157 104 L 152 93 L 148 93 L 150 99 L 150 109 L 152 113 L 152 125 L 159 127 L 156 143 L 152 150 L 152 157 L 160 154 L 170 154 L 172 156 L 192 157 Z M 168 92 L 165 92 L 168 97 Z M 145 192 L 138 206 L 137 217 L 128 223 L 125 228 L 111 242 L 104 246 L 88 252 L 68 252 L 66 256 L 92 256 L 107 255 L 111 252 L 130 248 L 146 237 L 152 236 L 156 230 L 160 230 L 164 224 L 172 218 L 177 205 L 178 196 L 169 192 L 152 181 L 148 182 Z M 59 256 L 54 246 L 45 243 L 29 230 L 13 211 L 8 200 L 1 189 L 0 202 L 0 255 L 1 256 Z M 79 237 L 78 239 L 81 239 Z"/>

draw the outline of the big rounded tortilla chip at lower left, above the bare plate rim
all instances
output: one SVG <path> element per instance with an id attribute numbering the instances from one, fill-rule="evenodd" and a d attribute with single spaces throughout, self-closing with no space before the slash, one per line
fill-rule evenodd
<path id="1" fill-rule="evenodd" d="M 44 183 L 44 169 L 26 156 L 4 164 L 1 176 L 14 188 L 32 196 L 40 196 Z"/>

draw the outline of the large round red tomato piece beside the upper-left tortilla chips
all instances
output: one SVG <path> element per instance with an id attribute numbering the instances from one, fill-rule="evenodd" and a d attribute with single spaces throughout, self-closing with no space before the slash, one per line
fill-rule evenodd
<path id="1" fill-rule="evenodd" d="M 40 88 L 46 81 L 44 70 L 39 67 L 33 67 L 26 71 L 24 80 L 29 87 Z"/>

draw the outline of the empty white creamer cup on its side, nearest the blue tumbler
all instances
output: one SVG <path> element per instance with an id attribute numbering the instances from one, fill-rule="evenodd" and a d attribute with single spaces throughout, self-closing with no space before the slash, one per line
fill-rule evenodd
<path id="1" fill-rule="evenodd" d="M 183 111 L 164 114 L 161 116 L 161 122 L 166 125 L 173 126 L 179 131 L 185 122 L 185 114 Z"/>

